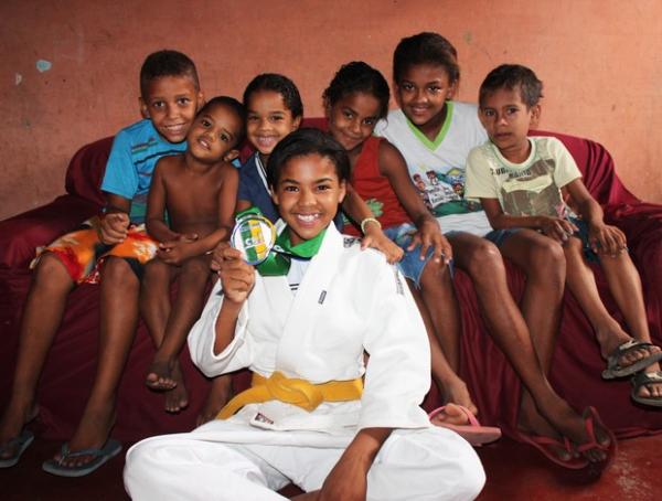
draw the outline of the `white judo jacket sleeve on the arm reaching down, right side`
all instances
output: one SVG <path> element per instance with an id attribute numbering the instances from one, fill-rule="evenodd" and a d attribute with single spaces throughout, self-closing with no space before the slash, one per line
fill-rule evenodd
<path id="1" fill-rule="evenodd" d="M 367 311 L 370 354 L 359 429 L 430 426 L 419 407 L 430 387 L 430 347 L 405 278 L 383 264 Z M 377 270 L 375 270 L 377 271 Z"/>

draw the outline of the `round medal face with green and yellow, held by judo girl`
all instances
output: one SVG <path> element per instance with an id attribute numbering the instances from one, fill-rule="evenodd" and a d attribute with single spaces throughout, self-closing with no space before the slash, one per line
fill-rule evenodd
<path id="1" fill-rule="evenodd" d="M 276 243 L 276 227 L 263 215 L 246 214 L 239 217 L 229 238 L 249 265 L 258 265 L 269 256 Z"/>

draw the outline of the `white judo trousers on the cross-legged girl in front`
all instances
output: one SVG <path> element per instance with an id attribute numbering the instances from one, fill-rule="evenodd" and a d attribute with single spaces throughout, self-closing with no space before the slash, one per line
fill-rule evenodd
<path id="1" fill-rule="evenodd" d="M 320 489 L 343 451 L 163 435 L 129 449 L 125 487 L 135 501 L 284 500 L 275 491 L 290 482 L 306 492 Z M 394 430 L 369 471 L 367 499 L 465 501 L 484 482 L 480 459 L 453 431 Z"/>

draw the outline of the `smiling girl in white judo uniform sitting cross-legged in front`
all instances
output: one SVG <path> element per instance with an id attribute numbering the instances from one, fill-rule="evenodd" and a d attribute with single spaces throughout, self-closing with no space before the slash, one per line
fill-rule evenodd
<path id="1" fill-rule="evenodd" d="M 218 419 L 134 446 L 127 491 L 149 501 L 264 501 L 285 499 L 276 491 L 291 482 L 301 499 L 476 498 L 478 456 L 419 407 L 429 344 L 403 277 L 331 224 L 350 172 L 344 149 L 300 129 L 267 171 L 287 224 L 279 253 L 256 273 L 236 248 L 218 249 L 221 280 L 189 335 L 206 375 L 248 367 L 253 386 Z"/>

